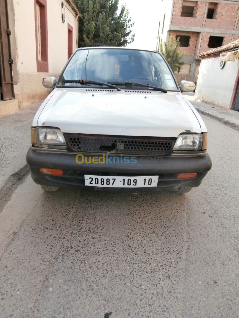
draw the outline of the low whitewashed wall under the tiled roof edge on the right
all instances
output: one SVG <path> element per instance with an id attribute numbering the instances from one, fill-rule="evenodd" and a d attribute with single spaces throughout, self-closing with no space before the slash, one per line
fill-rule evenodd
<path id="1" fill-rule="evenodd" d="M 230 106 L 239 60 L 227 61 L 220 69 L 220 57 L 202 59 L 195 100 L 205 100 L 223 107 Z"/>

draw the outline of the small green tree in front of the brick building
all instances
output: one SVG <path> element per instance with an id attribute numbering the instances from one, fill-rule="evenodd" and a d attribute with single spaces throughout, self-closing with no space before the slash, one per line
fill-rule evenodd
<path id="1" fill-rule="evenodd" d="M 180 51 L 179 44 L 179 38 L 176 40 L 170 35 L 168 43 L 166 41 L 161 43 L 159 48 L 159 52 L 163 54 L 173 72 L 180 72 L 181 66 L 184 65 L 184 62 L 181 62 L 184 52 Z"/>

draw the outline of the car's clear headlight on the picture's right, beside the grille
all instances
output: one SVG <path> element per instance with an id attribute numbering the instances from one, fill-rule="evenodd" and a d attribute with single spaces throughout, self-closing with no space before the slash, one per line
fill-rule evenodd
<path id="1" fill-rule="evenodd" d="M 173 150 L 202 150 L 203 134 L 180 134 Z"/>

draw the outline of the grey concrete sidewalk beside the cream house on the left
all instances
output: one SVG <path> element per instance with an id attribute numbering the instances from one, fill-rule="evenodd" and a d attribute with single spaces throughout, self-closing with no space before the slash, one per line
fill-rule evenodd
<path id="1" fill-rule="evenodd" d="M 31 125 L 41 102 L 0 116 L 0 199 L 28 171 L 26 153 L 31 145 Z"/>

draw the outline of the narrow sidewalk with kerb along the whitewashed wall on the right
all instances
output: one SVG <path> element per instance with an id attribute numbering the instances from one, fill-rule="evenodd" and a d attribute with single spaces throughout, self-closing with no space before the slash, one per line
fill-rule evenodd
<path id="1" fill-rule="evenodd" d="M 226 110 L 216 105 L 206 104 L 200 101 L 194 100 L 194 95 L 186 95 L 183 93 L 187 100 L 197 109 L 200 114 L 214 118 L 217 121 L 221 121 L 223 124 L 239 131 L 239 112 L 235 110 Z"/>

